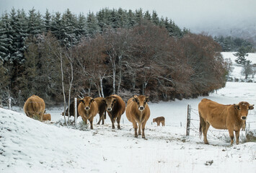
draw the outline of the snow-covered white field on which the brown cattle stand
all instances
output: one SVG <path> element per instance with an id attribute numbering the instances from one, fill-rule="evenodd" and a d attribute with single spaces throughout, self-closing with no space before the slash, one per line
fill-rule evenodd
<path id="1" fill-rule="evenodd" d="M 222 104 L 241 101 L 256 104 L 256 83 L 227 82 L 224 89 L 208 99 Z M 256 143 L 230 146 L 227 130 L 208 132 L 210 145 L 198 136 L 197 107 L 200 100 L 149 102 L 151 117 L 146 124 L 146 140 L 134 138 L 132 124 L 125 114 L 121 130 L 112 130 L 110 118 L 106 125 L 94 130 L 61 126 L 61 109 L 47 112 L 53 123 L 40 123 L 26 117 L 22 110 L 0 109 L 0 172 L 256 172 Z M 191 135 L 185 136 L 187 105 L 192 110 Z M 151 123 L 164 116 L 166 126 Z M 247 122 L 256 129 L 256 109 Z M 241 136 L 244 135 L 242 132 Z M 229 137 L 227 138 L 229 139 Z"/>

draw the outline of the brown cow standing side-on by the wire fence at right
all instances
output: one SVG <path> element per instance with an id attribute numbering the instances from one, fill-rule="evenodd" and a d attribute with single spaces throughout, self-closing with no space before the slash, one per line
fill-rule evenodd
<path id="1" fill-rule="evenodd" d="M 203 132 L 203 141 L 208 144 L 207 130 L 211 126 L 217 129 L 229 130 L 231 145 L 234 143 L 234 131 L 236 142 L 239 144 L 239 133 L 243 122 L 247 119 L 248 110 L 253 110 L 254 105 L 248 102 L 239 102 L 234 105 L 221 105 L 211 99 L 202 99 L 198 104 L 200 116 L 200 135 Z"/>

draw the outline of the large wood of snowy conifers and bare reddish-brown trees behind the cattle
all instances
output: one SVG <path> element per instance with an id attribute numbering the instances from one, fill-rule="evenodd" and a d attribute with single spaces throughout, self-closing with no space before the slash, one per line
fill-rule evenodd
<path id="1" fill-rule="evenodd" d="M 149 95 L 174 100 L 225 85 L 227 64 L 212 37 L 181 30 L 141 9 L 78 16 L 12 9 L 0 21 L 0 101 L 65 95 Z M 62 80 L 63 78 L 63 80 Z"/>

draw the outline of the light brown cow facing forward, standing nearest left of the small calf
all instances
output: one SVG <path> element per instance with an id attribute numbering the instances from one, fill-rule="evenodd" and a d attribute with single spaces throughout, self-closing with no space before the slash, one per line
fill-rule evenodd
<path id="1" fill-rule="evenodd" d="M 128 99 L 127 107 L 126 107 L 126 117 L 127 119 L 133 123 L 133 128 L 135 130 L 134 136 L 138 138 L 138 135 L 141 135 L 142 130 L 142 138 L 145 138 L 145 125 L 146 121 L 149 120 L 150 110 L 149 105 L 149 97 L 144 95 L 132 97 Z M 137 125 L 138 123 L 138 125 Z M 138 129 L 138 133 L 137 133 Z"/>

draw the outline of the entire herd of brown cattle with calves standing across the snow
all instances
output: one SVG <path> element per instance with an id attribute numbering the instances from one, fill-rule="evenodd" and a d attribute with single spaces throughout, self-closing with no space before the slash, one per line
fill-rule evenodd
<path id="1" fill-rule="evenodd" d="M 149 109 L 149 97 L 144 95 L 134 95 L 128 99 L 126 108 L 125 102 L 121 97 L 116 94 L 108 97 L 84 97 L 79 99 L 77 105 L 78 116 L 81 116 L 85 124 L 89 120 L 90 128 L 93 129 L 93 119 L 99 114 L 100 120 L 97 123 L 100 125 L 104 124 L 106 118 L 106 112 L 112 122 L 112 129 L 115 129 L 115 121 L 118 123 L 118 129 L 120 129 L 120 118 L 125 112 L 127 119 L 133 123 L 134 136 L 137 138 L 141 135 L 145 138 L 145 126 L 147 120 L 149 120 L 150 109 Z M 74 103 L 69 106 L 69 112 L 63 112 L 63 115 L 74 115 Z M 28 117 L 43 120 L 50 120 L 50 114 L 45 114 L 45 102 L 43 99 L 36 95 L 28 98 L 23 107 L 25 114 Z M 239 102 L 234 105 L 221 105 L 217 102 L 213 102 L 210 99 L 202 99 L 198 104 L 198 112 L 200 117 L 200 135 L 203 133 L 203 141 L 208 144 L 207 131 L 210 125 L 216 129 L 227 129 L 229 130 L 229 136 L 231 138 L 231 145 L 234 143 L 234 131 L 236 135 L 237 144 L 239 144 L 239 132 L 247 120 L 248 110 L 253 110 L 254 105 L 250 105 L 248 102 Z M 164 117 L 156 117 L 153 119 L 157 125 L 162 123 L 165 125 Z M 137 133 L 138 130 L 138 133 Z M 142 133 L 141 133 L 142 131 Z"/>

